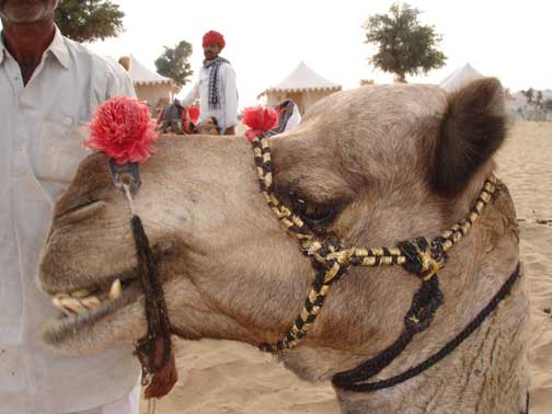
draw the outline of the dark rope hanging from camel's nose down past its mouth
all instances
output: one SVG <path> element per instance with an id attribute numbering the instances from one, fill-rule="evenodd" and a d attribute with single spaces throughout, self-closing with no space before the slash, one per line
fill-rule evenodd
<path id="1" fill-rule="evenodd" d="M 146 301 L 146 318 L 148 320 L 148 333 L 145 337 L 138 340 L 136 348 L 139 356 L 143 356 L 148 364 L 148 373 L 154 373 L 165 367 L 171 358 L 171 323 L 164 301 L 163 286 L 159 280 L 153 253 L 141 220 L 138 216 L 133 216 L 130 223 L 136 244 L 138 274 L 141 278 Z M 156 364 L 156 356 L 158 355 L 156 340 L 158 336 L 162 338 L 163 354 L 161 361 Z"/>

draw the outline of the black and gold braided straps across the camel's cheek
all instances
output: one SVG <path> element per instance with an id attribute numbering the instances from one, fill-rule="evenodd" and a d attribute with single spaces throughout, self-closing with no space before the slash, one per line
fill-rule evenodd
<path id="1" fill-rule="evenodd" d="M 307 336 L 320 314 L 331 285 L 350 266 L 403 266 L 419 276 L 424 286 L 430 279 L 432 285 L 438 286 L 436 276 L 445 267 L 448 260 L 447 251 L 468 234 L 496 191 L 496 180 L 492 176 L 485 182 L 468 218 L 444 231 L 430 243 L 425 238 L 418 238 L 392 249 L 346 248 L 335 237 L 319 239 L 298 215 L 278 200 L 273 192 L 273 165 L 268 139 L 261 135 L 253 139 L 252 145 L 261 192 L 266 204 L 286 230 L 300 242 L 301 250 L 312 257 L 318 268 L 312 289 L 291 329 L 277 343 L 261 345 L 261 349 L 272 353 L 291 349 Z M 416 319 L 418 318 L 411 320 L 414 325 L 419 323 Z"/>

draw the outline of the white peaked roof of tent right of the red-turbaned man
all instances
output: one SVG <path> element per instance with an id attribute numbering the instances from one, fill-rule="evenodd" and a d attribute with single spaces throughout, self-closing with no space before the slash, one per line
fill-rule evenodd
<path id="1" fill-rule="evenodd" d="M 322 78 L 303 61 L 281 82 L 263 91 L 268 92 L 341 91 L 342 87 Z"/>

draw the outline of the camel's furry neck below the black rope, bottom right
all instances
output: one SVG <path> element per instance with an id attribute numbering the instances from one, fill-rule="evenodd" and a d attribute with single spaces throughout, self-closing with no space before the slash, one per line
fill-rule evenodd
<path id="1" fill-rule="evenodd" d="M 518 284 L 519 285 L 519 284 Z M 360 413 L 526 413 L 528 379 L 525 371 L 522 289 L 515 286 L 508 306 L 474 331 L 452 354 L 430 370 L 386 390 L 348 392 L 336 388 L 343 414 Z M 381 378 L 410 368 L 432 354 L 427 337 L 396 358 Z M 415 364 L 415 363 L 414 363 Z"/>

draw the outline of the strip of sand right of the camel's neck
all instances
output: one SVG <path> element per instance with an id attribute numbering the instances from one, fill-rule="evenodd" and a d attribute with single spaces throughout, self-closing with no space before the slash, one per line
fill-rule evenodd
<path id="1" fill-rule="evenodd" d="M 531 413 L 552 412 L 552 123 L 517 123 L 498 154 L 498 176 L 516 205 L 531 320 Z M 549 221 L 550 220 L 550 221 Z M 548 222 L 545 222 L 548 221 Z"/>

